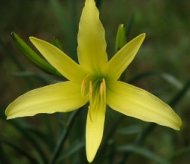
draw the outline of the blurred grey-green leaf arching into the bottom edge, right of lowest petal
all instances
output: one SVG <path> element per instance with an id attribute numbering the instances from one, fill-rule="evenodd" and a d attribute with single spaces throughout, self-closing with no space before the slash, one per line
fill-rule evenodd
<path id="1" fill-rule="evenodd" d="M 153 153 L 152 151 L 148 150 L 147 148 L 135 146 L 135 145 L 125 145 L 120 146 L 117 149 L 120 152 L 133 152 L 136 154 L 139 154 L 145 158 L 148 158 L 154 162 L 160 163 L 160 164 L 168 164 L 169 161 L 164 159 L 163 157 Z"/>

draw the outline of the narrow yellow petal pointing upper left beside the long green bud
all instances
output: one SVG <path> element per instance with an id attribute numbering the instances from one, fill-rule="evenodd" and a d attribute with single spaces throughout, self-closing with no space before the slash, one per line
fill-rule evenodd
<path id="1" fill-rule="evenodd" d="M 46 60 L 54 66 L 64 77 L 72 81 L 81 81 L 84 77 L 82 68 L 54 45 L 35 38 L 30 37 L 30 41 L 46 58 Z"/>

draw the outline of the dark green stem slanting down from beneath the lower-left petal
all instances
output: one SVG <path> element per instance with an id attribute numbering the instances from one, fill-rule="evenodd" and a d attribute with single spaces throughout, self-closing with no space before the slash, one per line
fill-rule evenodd
<path id="1" fill-rule="evenodd" d="M 63 130 L 63 132 L 62 132 L 62 134 L 61 134 L 61 136 L 57 142 L 57 145 L 55 147 L 53 157 L 52 157 L 52 160 L 50 161 L 50 164 L 55 164 L 57 158 L 59 157 L 59 154 L 61 153 L 61 150 L 64 146 L 64 143 L 65 143 L 65 141 L 66 141 L 66 139 L 67 139 L 67 137 L 71 131 L 71 128 L 74 124 L 76 116 L 79 114 L 80 111 L 81 110 L 77 110 L 77 111 L 73 112 L 71 114 L 71 116 L 69 117 L 68 122 L 66 124 L 66 128 Z"/>

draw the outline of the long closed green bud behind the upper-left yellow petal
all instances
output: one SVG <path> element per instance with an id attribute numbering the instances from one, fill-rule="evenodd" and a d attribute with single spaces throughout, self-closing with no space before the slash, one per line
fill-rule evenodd
<path id="1" fill-rule="evenodd" d="M 40 69 L 57 76 L 61 76 L 61 74 L 54 67 L 46 62 L 40 55 L 34 52 L 32 48 L 19 35 L 13 32 L 11 36 L 18 49 L 23 53 L 25 57 L 27 57 L 27 59 L 29 59 Z"/>

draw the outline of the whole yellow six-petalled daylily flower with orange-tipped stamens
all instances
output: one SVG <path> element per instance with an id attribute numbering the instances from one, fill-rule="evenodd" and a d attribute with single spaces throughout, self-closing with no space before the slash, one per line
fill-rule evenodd
<path id="1" fill-rule="evenodd" d="M 34 89 L 13 101 L 7 119 L 39 113 L 70 112 L 89 103 L 86 121 L 86 154 L 92 162 L 100 146 L 106 106 L 143 121 L 179 130 L 181 119 L 159 98 L 119 80 L 134 59 L 145 34 L 128 42 L 109 61 L 105 32 L 94 0 L 86 0 L 78 33 L 78 61 L 50 43 L 30 37 L 44 58 L 68 81 Z"/>

